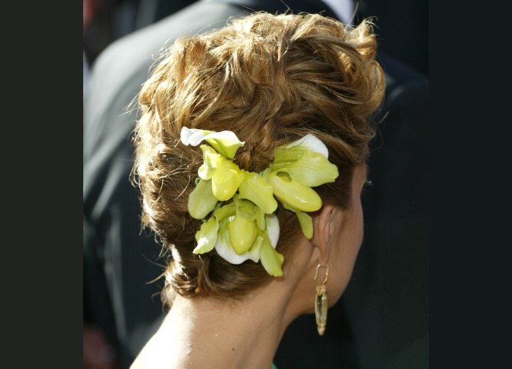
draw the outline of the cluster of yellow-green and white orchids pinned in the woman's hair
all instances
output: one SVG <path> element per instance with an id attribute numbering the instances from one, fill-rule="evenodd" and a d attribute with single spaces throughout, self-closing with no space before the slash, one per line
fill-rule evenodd
<path id="1" fill-rule="evenodd" d="M 193 253 L 215 248 L 232 264 L 261 260 L 268 274 L 282 276 L 284 256 L 275 250 L 279 239 L 279 221 L 274 214 L 277 200 L 297 214 L 304 236 L 311 238 L 313 221 L 306 213 L 321 208 L 321 198 L 311 187 L 338 177 L 326 145 L 307 134 L 275 148 L 274 161 L 255 173 L 233 162 L 238 148 L 245 145 L 235 133 L 181 129 L 184 145 L 197 146 L 203 141 L 208 143 L 200 146 L 203 165 L 188 197 L 188 212 L 203 221 Z"/>

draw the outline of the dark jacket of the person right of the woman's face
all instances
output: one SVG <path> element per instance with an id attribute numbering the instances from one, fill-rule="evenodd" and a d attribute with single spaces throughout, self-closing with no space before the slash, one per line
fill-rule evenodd
<path id="1" fill-rule="evenodd" d="M 425 78 L 390 89 L 369 160 L 366 236 L 341 300 L 362 368 L 429 364 L 427 102 Z"/>

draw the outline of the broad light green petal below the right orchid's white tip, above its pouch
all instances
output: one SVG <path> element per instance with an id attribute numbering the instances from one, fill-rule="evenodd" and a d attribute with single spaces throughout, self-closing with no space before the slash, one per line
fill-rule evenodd
<path id="1" fill-rule="evenodd" d="M 287 150 L 299 150 L 299 147 Z M 271 165 L 270 168 L 274 172 L 288 173 L 292 180 L 297 180 L 307 187 L 334 182 L 338 177 L 338 167 L 329 163 L 324 155 L 312 151 L 303 152 L 295 161 L 280 162 L 277 165 Z"/>

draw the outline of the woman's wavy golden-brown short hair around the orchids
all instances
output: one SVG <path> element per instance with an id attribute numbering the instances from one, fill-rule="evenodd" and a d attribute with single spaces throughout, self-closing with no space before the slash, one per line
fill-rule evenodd
<path id="1" fill-rule="evenodd" d="M 142 222 L 171 250 L 162 299 L 238 298 L 270 280 L 261 263 L 233 265 L 192 253 L 201 221 L 187 211 L 199 165 L 198 147 L 180 143 L 182 127 L 233 131 L 245 146 L 235 163 L 260 172 L 276 145 L 312 133 L 337 165 L 336 182 L 315 187 L 324 204 L 346 208 L 353 168 L 366 160 L 375 131 L 370 117 L 383 99 L 372 24 L 342 23 L 318 14 L 253 13 L 203 35 L 176 40 L 139 94 L 134 178 Z M 297 217 L 276 211 L 277 250 L 286 255 L 301 235 Z"/>

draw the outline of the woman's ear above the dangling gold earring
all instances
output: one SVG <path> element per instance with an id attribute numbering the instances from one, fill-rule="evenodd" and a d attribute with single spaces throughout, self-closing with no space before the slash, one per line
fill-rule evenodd
<path id="1" fill-rule="evenodd" d="M 320 251 L 320 264 L 326 265 L 329 262 L 329 246 L 336 224 L 333 224 L 335 207 L 324 205 L 312 216 L 313 237 L 311 243 Z"/>

